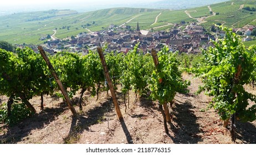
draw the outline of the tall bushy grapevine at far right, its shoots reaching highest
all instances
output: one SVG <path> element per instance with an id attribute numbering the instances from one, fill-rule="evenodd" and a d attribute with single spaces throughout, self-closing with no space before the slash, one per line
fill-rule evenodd
<path id="1" fill-rule="evenodd" d="M 213 41 L 215 47 L 203 51 L 204 59 L 197 69 L 197 76 L 202 78 L 204 85 L 198 92 L 213 96 L 210 106 L 217 110 L 222 120 L 235 113 L 242 121 L 253 121 L 256 105 L 249 106 L 248 101 L 255 102 L 256 96 L 245 91 L 243 85 L 249 84 L 255 70 L 255 46 L 246 49 L 239 35 L 231 29 L 219 28 L 226 32 L 226 37 Z"/>

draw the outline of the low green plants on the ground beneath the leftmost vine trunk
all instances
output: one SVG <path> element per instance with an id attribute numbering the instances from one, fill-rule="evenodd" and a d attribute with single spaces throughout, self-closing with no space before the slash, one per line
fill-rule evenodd
<path id="1" fill-rule="evenodd" d="M 12 104 L 11 110 L 12 114 L 8 117 L 7 104 L 3 103 L 0 106 L 0 122 L 13 125 L 32 115 L 32 112 L 24 104 L 18 104 L 17 102 Z"/>

